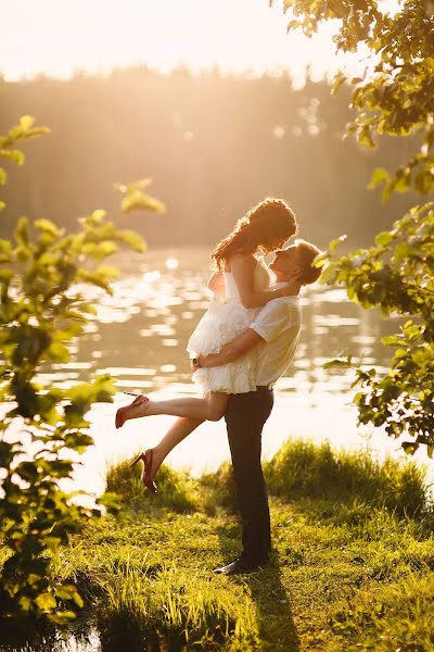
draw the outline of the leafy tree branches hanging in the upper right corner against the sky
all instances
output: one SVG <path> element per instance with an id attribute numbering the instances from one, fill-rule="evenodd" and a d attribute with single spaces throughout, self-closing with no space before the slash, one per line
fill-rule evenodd
<path id="1" fill-rule="evenodd" d="M 352 105 L 357 111 L 349 133 L 359 142 L 375 147 L 375 134 L 407 136 L 418 131 L 419 151 L 394 175 L 375 172 L 373 184 L 384 184 L 383 199 L 413 187 L 434 191 L 434 0 L 406 0 L 391 13 L 391 3 L 376 0 L 284 0 L 291 29 L 311 36 L 323 22 L 336 26 L 336 48 L 370 53 L 354 85 Z M 346 82 L 339 73 L 334 90 Z"/>

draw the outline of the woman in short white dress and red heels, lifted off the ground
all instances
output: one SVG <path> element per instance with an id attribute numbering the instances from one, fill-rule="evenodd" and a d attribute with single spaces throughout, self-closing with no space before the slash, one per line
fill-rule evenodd
<path id="1" fill-rule="evenodd" d="M 248 327 L 257 311 L 268 301 L 293 293 L 290 286 L 269 289 L 268 268 L 257 254 L 281 248 L 296 230 L 295 215 L 289 205 L 280 199 L 267 198 L 239 220 L 229 236 L 217 244 L 212 253 L 216 273 L 210 277 L 208 287 L 217 292 L 222 276 L 226 300 L 214 294 L 208 311 L 190 337 L 187 350 L 191 358 L 200 353 L 218 353 L 225 343 Z M 193 379 L 203 391 L 202 399 L 151 401 L 138 397 L 130 405 L 119 408 L 116 427 L 122 427 L 129 418 L 155 414 L 189 417 L 192 429 L 204 419 L 218 421 L 225 414 L 229 394 L 256 389 L 254 355 L 245 355 L 220 367 L 200 368 Z M 142 481 L 156 492 L 155 482 L 151 479 L 152 452 L 148 449 L 138 455 L 131 466 L 142 460 Z"/>

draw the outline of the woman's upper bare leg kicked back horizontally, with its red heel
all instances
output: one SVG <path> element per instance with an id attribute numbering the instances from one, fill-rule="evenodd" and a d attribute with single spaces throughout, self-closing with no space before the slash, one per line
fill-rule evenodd
<path id="1" fill-rule="evenodd" d="M 123 411 L 122 419 L 116 421 L 116 426 L 120 427 L 130 418 L 140 418 L 141 416 L 153 416 L 156 414 L 188 416 L 200 421 L 219 421 L 225 414 L 227 403 L 228 394 L 220 391 L 207 393 L 203 399 L 148 400 L 142 403 L 136 399 L 130 405 L 120 409 Z"/>

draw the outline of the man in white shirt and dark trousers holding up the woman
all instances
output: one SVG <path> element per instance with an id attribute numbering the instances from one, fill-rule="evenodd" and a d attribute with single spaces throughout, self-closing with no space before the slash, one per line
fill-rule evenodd
<path id="1" fill-rule="evenodd" d="M 216 568 L 215 573 L 234 575 L 251 573 L 263 567 L 271 548 L 270 515 L 267 489 L 260 464 L 261 431 L 272 405 L 272 386 L 291 363 L 301 330 L 298 292 L 302 286 L 315 283 L 320 269 L 312 267 L 319 249 L 304 240 L 296 240 L 288 249 L 279 250 L 271 271 L 276 286 L 292 283 L 295 294 L 269 301 L 260 309 L 244 333 L 227 343 L 219 353 L 200 355 L 192 361 L 192 371 L 228 364 L 255 349 L 256 391 L 231 394 L 225 413 L 233 474 L 240 501 L 243 550 L 233 562 Z M 218 288 L 214 288 L 218 291 Z M 141 405 L 145 397 L 138 397 L 132 405 Z M 138 416 L 140 413 L 137 413 Z M 179 417 L 162 441 L 152 449 L 153 462 L 150 480 L 153 481 L 159 464 L 202 421 Z"/>

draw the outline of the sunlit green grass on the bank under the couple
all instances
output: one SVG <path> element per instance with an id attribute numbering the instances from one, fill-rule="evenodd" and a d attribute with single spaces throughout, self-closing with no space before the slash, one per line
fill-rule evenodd
<path id="1" fill-rule="evenodd" d="M 434 513 L 414 464 L 289 442 L 265 464 L 272 564 L 221 577 L 240 546 L 230 466 L 191 479 L 162 468 L 157 496 L 127 463 L 123 509 L 86 526 L 58 576 L 85 598 L 104 652 L 434 651 Z M 48 642 L 27 650 L 55 650 Z M 48 644 L 50 643 L 50 644 Z"/>

